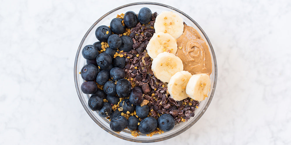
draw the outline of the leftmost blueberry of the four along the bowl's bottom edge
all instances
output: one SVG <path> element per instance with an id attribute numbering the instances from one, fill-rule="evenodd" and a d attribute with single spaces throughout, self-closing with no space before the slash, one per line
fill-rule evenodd
<path id="1" fill-rule="evenodd" d="M 127 126 L 127 119 L 124 116 L 116 116 L 111 119 L 109 126 L 112 131 L 122 131 Z"/>

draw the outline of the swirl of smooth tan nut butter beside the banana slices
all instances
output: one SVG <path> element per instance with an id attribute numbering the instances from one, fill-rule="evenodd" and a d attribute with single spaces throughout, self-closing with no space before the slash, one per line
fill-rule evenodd
<path id="1" fill-rule="evenodd" d="M 212 61 L 208 46 L 199 33 L 191 26 L 184 25 L 183 34 L 177 39 L 178 56 L 184 65 L 184 70 L 192 75 L 212 73 Z M 181 48 L 181 49 L 180 49 Z"/>

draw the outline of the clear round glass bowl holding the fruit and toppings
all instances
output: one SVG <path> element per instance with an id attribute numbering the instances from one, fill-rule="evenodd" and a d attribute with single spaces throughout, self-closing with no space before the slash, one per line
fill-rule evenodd
<path id="1" fill-rule="evenodd" d="M 81 54 L 81 49 L 84 48 L 84 46 L 88 44 L 93 44 L 94 42 L 98 41 L 95 37 L 95 30 L 98 26 L 106 25 L 109 26 L 111 19 L 115 18 L 117 14 L 125 13 L 127 11 L 134 11 L 136 13 L 139 12 L 139 10 L 143 7 L 148 7 L 152 11 L 152 13 L 157 12 L 160 14 L 163 11 L 173 11 L 180 15 L 180 17 L 183 18 L 183 21 L 188 25 L 194 27 L 201 37 L 206 41 L 207 45 L 209 46 L 209 50 L 211 52 L 212 57 L 212 73 L 210 75 L 211 80 L 211 89 L 208 94 L 209 97 L 206 97 L 204 101 L 201 101 L 199 104 L 199 108 L 195 110 L 195 116 L 191 117 L 187 122 L 180 123 L 176 125 L 171 131 L 162 133 L 162 134 L 155 134 L 152 137 L 146 136 L 146 135 L 140 135 L 138 137 L 134 137 L 131 135 L 131 132 L 127 129 L 121 131 L 120 133 L 114 132 L 110 129 L 109 126 L 109 120 L 106 118 L 102 118 L 98 115 L 96 111 L 92 111 L 88 107 L 88 98 L 90 97 L 87 94 L 84 94 L 81 91 L 81 84 L 84 82 L 84 80 L 81 78 L 81 75 L 79 75 L 79 72 L 81 68 L 86 64 L 86 59 L 83 58 Z M 108 133 L 119 137 L 121 139 L 125 139 L 132 142 L 158 142 L 165 139 L 169 139 L 172 137 L 175 137 L 176 135 L 179 135 L 180 133 L 186 131 L 189 129 L 193 124 L 195 124 L 200 117 L 204 114 L 205 110 L 208 108 L 212 97 L 214 95 L 215 87 L 216 87 L 216 81 L 217 81 L 217 64 L 216 64 L 216 57 L 214 54 L 214 50 L 212 48 L 212 45 L 204 33 L 204 31 L 200 28 L 200 26 L 187 14 L 184 12 L 173 8 L 171 6 L 167 6 L 161 3 L 152 3 L 152 2 L 140 2 L 140 3 L 130 3 L 124 6 L 120 6 L 118 8 L 115 8 L 111 10 L 110 12 L 104 14 L 100 19 L 98 19 L 92 26 L 89 28 L 89 30 L 86 32 L 85 36 L 83 37 L 75 59 L 74 64 L 74 80 L 75 80 L 75 86 L 76 90 L 79 96 L 79 99 L 88 113 L 90 117 L 98 124 L 101 128 L 103 128 Z"/>

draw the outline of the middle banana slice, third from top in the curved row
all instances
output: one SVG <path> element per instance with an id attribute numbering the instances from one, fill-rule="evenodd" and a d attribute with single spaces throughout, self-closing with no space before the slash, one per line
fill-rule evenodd
<path id="1" fill-rule="evenodd" d="M 183 70 L 182 60 L 173 53 L 163 52 L 152 61 L 152 71 L 157 79 L 169 82 L 171 77 Z"/>

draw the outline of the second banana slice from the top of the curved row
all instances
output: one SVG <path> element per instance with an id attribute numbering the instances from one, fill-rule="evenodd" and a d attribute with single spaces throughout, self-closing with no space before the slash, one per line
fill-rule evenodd
<path id="1" fill-rule="evenodd" d="M 177 40 L 170 34 L 163 32 L 155 33 L 148 42 L 148 46 L 146 47 L 148 55 L 152 59 L 156 58 L 157 55 L 162 52 L 176 54 L 177 49 Z"/>

